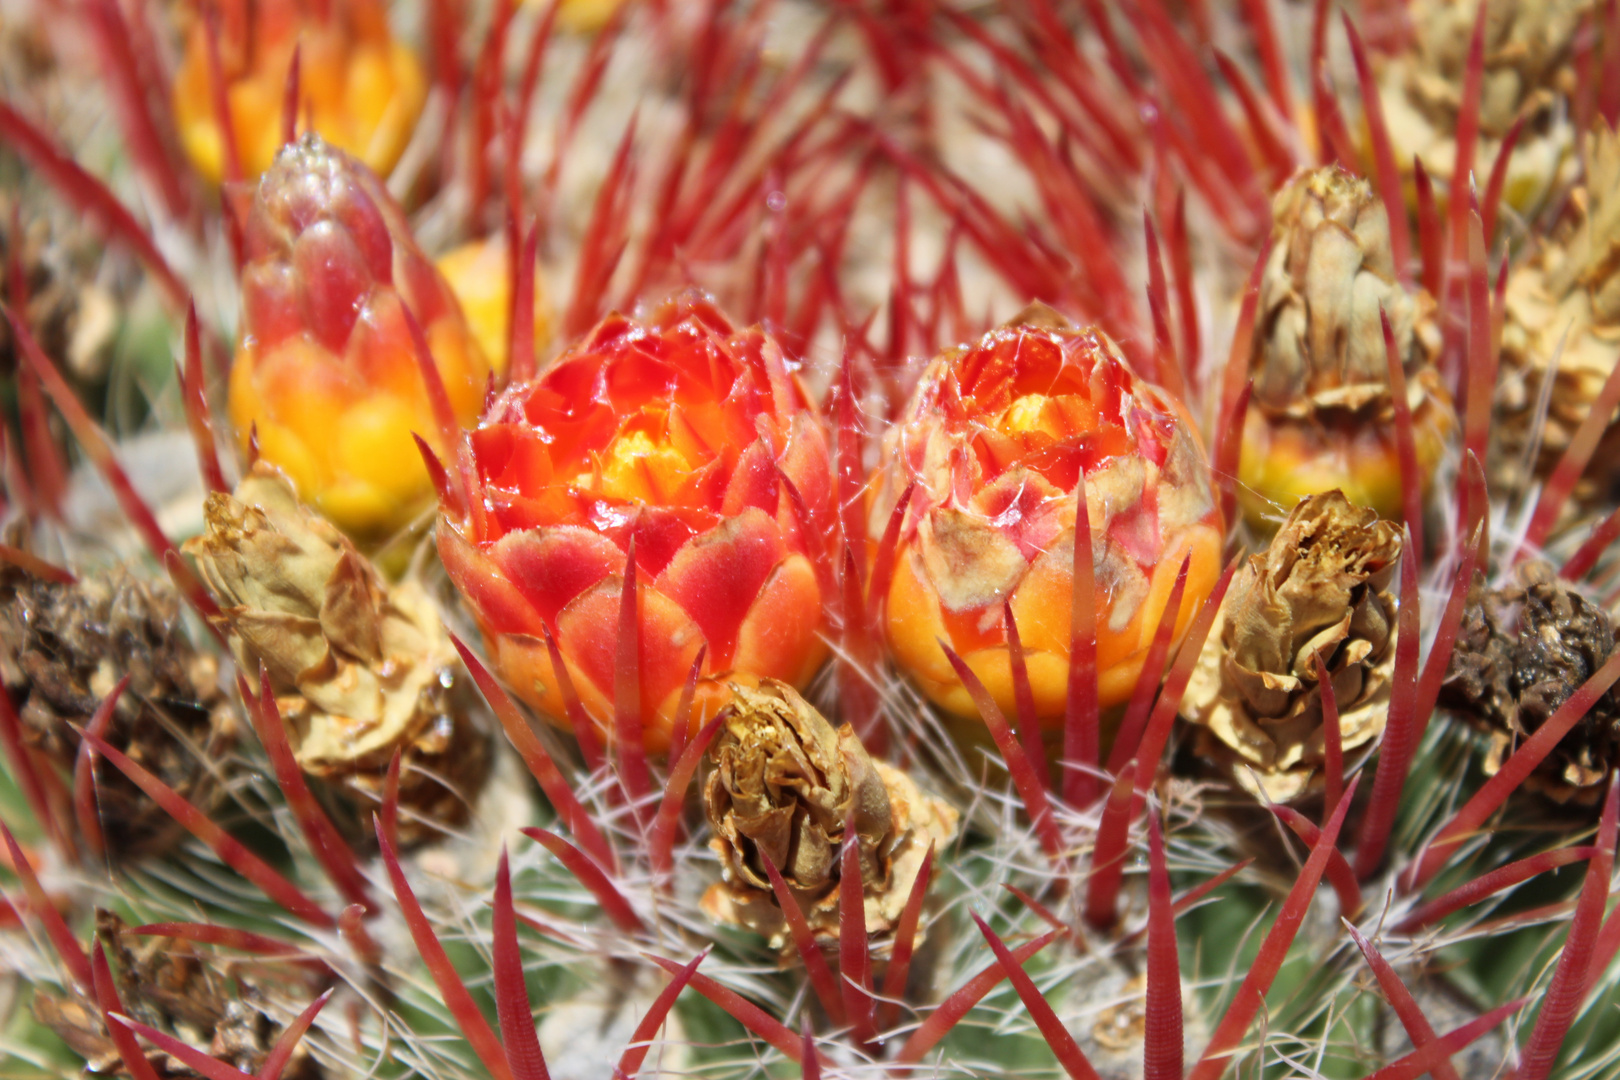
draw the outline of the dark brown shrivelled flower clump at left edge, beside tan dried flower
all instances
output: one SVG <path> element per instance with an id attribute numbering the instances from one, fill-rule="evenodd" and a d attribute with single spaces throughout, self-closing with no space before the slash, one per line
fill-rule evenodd
<path id="1" fill-rule="evenodd" d="M 212 805 L 238 721 L 217 661 L 186 636 L 175 591 L 125 568 L 73 585 L 0 570 L 0 677 L 29 745 L 58 769 L 71 771 L 78 756 L 73 725 L 86 725 L 123 675 L 130 687 L 107 742 L 193 803 Z M 144 855 L 181 836 L 117 769 L 99 771 L 97 805 L 113 857 Z"/>

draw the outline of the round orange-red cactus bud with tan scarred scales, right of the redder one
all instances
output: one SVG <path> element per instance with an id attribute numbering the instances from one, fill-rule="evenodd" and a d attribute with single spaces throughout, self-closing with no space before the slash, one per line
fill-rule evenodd
<path id="1" fill-rule="evenodd" d="M 1055 725 L 1069 677 L 1074 521 L 1085 481 L 1098 699 L 1129 698 L 1191 557 L 1176 640 L 1220 573 L 1210 468 L 1183 406 L 1139 379 L 1106 335 L 1032 308 L 936 356 L 883 444 L 876 534 L 915 481 L 888 593 L 894 659 L 943 708 L 978 716 L 940 641 L 1014 714 L 1011 604 Z"/>

